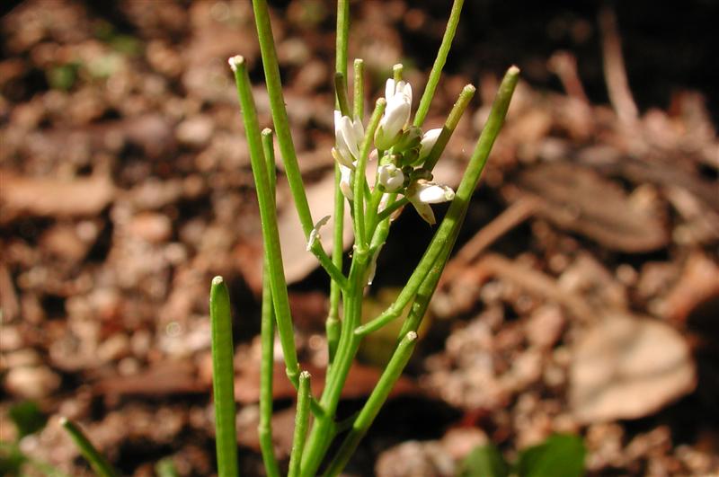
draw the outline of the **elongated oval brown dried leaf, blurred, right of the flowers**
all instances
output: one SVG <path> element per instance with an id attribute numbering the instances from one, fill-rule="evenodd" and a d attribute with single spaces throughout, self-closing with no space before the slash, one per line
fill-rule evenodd
<path id="1" fill-rule="evenodd" d="M 519 197 L 537 198 L 537 213 L 621 252 L 650 252 L 669 236 L 652 210 L 630 200 L 613 181 L 584 167 L 547 163 L 519 175 Z"/>

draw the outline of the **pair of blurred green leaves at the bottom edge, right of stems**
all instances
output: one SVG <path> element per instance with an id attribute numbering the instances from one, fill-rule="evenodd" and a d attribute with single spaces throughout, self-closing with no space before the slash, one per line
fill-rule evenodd
<path id="1" fill-rule="evenodd" d="M 461 477 L 581 477 L 584 475 L 586 448 L 581 437 L 553 434 L 546 440 L 519 452 L 510 466 L 493 444 L 478 446 L 460 466 Z"/>

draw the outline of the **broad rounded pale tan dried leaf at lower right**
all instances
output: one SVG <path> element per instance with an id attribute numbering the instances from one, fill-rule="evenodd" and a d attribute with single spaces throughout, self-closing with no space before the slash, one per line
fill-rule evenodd
<path id="1" fill-rule="evenodd" d="M 582 422 L 641 418 L 695 385 L 687 342 L 662 322 L 609 314 L 573 348 L 569 399 Z"/>

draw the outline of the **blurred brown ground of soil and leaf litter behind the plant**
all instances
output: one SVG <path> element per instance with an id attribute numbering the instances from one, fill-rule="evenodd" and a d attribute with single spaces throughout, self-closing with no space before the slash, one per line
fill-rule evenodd
<path id="1" fill-rule="evenodd" d="M 335 5 L 270 3 L 300 167 L 324 216 Z M 402 62 L 416 107 L 449 8 L 351 2 L 368 103 Z M 207 304 L 223 275 L 240 458 L 262 475 L 262 246 L 226 64 L 247 59 L 271 126 L 250 2 L 31 0 L 0 12 L 0 473 L 20 454 L 90 475 L 65 415 L 124 474 L 154 475 L 164 458 L 181 475 L 213 474 Z M 717 18 L 710 0 L 466 1 L 427 126 L 465 84 L 477 94 L 439 181 L 458 184 L 506 68 L 522 81 L 421 343 L 348 475 L 452 475 L 475 446 L 511 459 L 553 432 L 582 437 L 590 475 L 719 470 Z M 318 392 L 328 287 L 278 167 L 297 346 Z M 410 209 L 395 222 L 366 318 L 432 233 Z M 360 350 L 342 415 L 373 388 L 395 334 Z M 276 375 L 286 458 L 294 391 Z"/>

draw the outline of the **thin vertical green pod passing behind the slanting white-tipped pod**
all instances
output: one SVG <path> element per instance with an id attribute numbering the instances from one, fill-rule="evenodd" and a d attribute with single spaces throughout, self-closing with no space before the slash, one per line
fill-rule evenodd
<path id="1" fill-rule="evenodd" d="M 272 197 L 275 197 L 275 159 L 272 142 L 272 130 L 262 130 L 262 151 L 270 179 Z M 260 438 L 260 449 L 262 450 L 262 461 L 268 477 L 280 476 L 280 465 L 272 444 L 272 405 L 274 401 L 272 393 L 272 378 L 274 375 L 274 309 L 272 307 L 272 290 L 270 283 L 270 265 L 265 254 L 262 267 L 262 319 L 260 325 L 260 337 L 262 342 L 262 361 L 260 365 L 260 423 L 257 427 L 257 434 Z"/>

